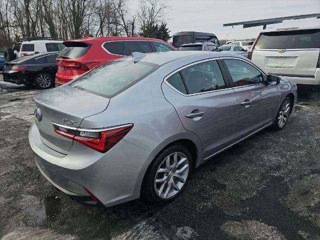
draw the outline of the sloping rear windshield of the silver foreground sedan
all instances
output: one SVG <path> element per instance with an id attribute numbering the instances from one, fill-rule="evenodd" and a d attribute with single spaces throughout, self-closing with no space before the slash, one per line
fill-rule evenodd
<path id="1" fill-rule="evenodd" d="M 93 94 L 112 97 L 157 68 L 158 65 L 146 62 L 111 61 L 88 71 L 70 85 Z"/>

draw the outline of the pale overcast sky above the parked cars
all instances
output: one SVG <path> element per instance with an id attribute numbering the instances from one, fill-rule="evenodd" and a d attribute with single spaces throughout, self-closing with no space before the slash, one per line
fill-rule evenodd
<path id="1" fill-rule="evenodd" d="M 223 27 L 223 23 L 258 20 L 320 12 L 320 0 L 167 0 L 170 8 L 165 16 L 167 26 L 178 31 L 203 31 L 219 39 L 255 38 L 262 26 L 242 28 Z M 138 0 L 129 0 L 128 8 L 135 12 Z M 320 18 L 285 20 L 267 28 L 320 25 Z"/>

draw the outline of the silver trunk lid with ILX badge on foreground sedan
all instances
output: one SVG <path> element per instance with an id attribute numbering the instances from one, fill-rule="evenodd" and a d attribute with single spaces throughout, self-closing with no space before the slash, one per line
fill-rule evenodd
<path id="1" fill-rule="evenodd" d="M 64 154 L 70 150 L 72 140 L 57 134 L 52 123 L 76 128 L 84 117 L 105 110 L 109 103 L 109 98 L 71 86 L 63 86 L 40 93 L 33 99 L 37 108 L 35 122 L 42 142 Z"/>

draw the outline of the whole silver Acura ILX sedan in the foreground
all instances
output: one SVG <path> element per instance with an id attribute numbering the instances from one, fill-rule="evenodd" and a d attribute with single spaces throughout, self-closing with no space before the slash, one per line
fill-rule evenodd
<path id="1" fill-rule="evenodd" d="M 133 52 L 34 96 L 29 142 L 42 175 L 83 204 L 166 203 L 192 168 L 265 127 L 296 100 L 284 78 L 224 52 Z"/>

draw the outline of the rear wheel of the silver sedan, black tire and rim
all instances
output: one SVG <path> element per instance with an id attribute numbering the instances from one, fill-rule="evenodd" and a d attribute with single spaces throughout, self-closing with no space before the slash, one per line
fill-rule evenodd
<path id="1" fill-rule="evenodd" d="M 142 183 L 142 196 L 156 204 L 172 201 L 186 185 L 191 165 L 191 154 L 185 146 L 167 147 L 148 168 Z"/>

